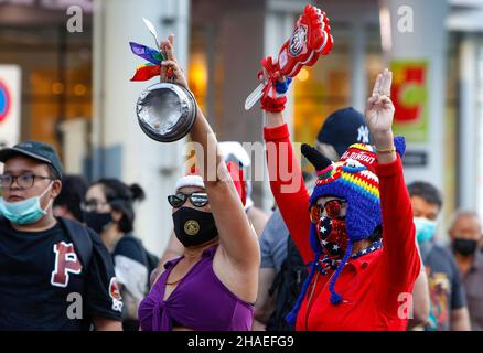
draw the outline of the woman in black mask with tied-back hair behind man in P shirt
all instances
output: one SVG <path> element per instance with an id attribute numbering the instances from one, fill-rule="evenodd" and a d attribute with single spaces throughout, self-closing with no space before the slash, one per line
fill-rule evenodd
<path id="1" fill-rule="evenodd" d="M 138 307 L 148 291 L 146 249 L 133 235 L 133 203 L 144 199 L 138 184 L 100 179 L 87 190 L 83 208 L 86 224 L 99 234 L 114 260 L 124 298 L 122 327 L 139 330 Z"/>

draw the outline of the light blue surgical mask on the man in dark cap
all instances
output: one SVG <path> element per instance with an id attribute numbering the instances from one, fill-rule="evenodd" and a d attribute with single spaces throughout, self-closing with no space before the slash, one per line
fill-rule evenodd
<path id="1" fill-rule="evenodd" d="M 3 197 L 0 197 L 0 214 L 7 220 L 15 224 L 30 224 L 39 221 L 46 215 L 46 210 L 52 204 L 52 201 L 42 210 L 40 200 L 51 189 L 53 182 L 51 182 L 45 191 L 34 197 L 30 197 L 19 202 L 7 202 Z"/>

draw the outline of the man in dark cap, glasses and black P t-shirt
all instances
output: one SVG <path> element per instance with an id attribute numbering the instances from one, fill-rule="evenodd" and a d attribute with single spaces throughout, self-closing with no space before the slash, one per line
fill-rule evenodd
<path id="1" fill-rule="evenodd" d="M 1 149 L 0 162 L 0 330 L 120 330 L 107 249 L 92 229 L 53 215 L 62 189 L 54 149 L 26 141 Z"/>

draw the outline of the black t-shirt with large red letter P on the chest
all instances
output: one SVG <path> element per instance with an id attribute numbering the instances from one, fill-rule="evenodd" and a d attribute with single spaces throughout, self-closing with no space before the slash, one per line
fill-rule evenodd
<path id="1" fill-rule="evenodd" d="M 31 233 L 0 222 L 0 330 L 82 330 L 92 318 L 120 320 L 112 260 L 88 232 L 93 254 L 83 268 L 58 224 Z"/>

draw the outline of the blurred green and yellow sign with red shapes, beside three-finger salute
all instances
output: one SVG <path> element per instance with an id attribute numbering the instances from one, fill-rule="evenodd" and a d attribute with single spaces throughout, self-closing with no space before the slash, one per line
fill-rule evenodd
<path id="1" fill-rule="evenodd" d="M 397 60 L 390 63 L 390 97 L 396 108 L 394 131 L 408 142 L 427 142 L 429 136 L 427 61 Z"/>

